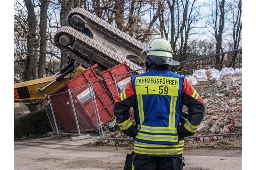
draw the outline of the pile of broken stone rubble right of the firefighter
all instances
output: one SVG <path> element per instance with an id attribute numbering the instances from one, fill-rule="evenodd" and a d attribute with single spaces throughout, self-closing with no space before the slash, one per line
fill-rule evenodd
<path id="1" fill-rule="evenodd" d="M 207 83 L 202 82 L 194 88 L 206 104 L 205 117 L 197 129 L 197 135 L 242 131 L 241 74 L 224 76 Z M 216 140 L 221 137 L 201 137 L 199 140 Z"/>

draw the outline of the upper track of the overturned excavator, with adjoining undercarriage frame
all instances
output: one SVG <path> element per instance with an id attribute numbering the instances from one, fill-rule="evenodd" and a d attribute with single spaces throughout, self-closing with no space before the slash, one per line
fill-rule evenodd
<path id="1" fill-rule="evenodd" d="M 83 8 L 74 8 L 68 15 L 71 27 L 100 42 L 127 59 L 143 66 L 146 55 L 141 50 L 146 45 L 129 34 L 122 32 L 111 24 Z"/>

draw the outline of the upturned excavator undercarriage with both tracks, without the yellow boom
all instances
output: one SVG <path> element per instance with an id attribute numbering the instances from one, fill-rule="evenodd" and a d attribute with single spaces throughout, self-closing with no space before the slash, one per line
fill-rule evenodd
<path id="1" fill-rule="evenodd" d="M 82 8 L 70 12 L 68 23 L 58 30 L 54 42 L 85 68 L 97 63 L 98 71 L 103 71 L 124 61 L 131 70 L 143 67 L 144 43 Z"/>

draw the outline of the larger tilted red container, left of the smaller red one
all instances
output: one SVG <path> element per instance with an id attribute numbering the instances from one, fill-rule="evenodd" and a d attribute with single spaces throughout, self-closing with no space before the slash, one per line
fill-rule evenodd
<path id="1" fill-rule="evenodd" d="M 88 86 L 90 81 L 99 80 L 93 70 L 95 67 L 97 67 L 97 64 L 86 69 L 80 75 L 63 84 L 58 91 L 54 92 L 54 94 L 56 94 L 71 89 L 80 131 L 97 130 L 95 112 Z M 104 125 L 115 118 L 113 114 L 114 101 L 101 81 L 94 82 L 92 87 L 95 93 L 101 123 Z M 53 110 L 58 115 L 64 127 L 70 132 L 77 132 L 68 92 L 51 96 L 51 101 Z"/>

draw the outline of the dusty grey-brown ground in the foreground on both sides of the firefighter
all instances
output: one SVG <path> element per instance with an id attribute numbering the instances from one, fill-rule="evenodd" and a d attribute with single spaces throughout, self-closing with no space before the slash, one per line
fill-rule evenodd
<path id="1" fill-rule="evenodd" d="M 14 142 L 14 169 L 92 169 L 119 170 L 123 169 L 127 153 L 132 147 L 88 146 L 96 139 L 72 141 L 71 136 L 59 138 L 37 138 Z M 183 154 L 184 169 L 241 169 L 240 138 L 229 140 L 234 146 L 228 149 L 218 148 L 216 143 L 197 143 L 196 149 L 185 146 Z M 219 141 L 220 142 L 220 141 Z M 188 141 L 189 143 L 189 141 Z M 240 143 L 240 144 L 239 144 Z M 201 147 L 200 147 L 201 146 Z"/>

